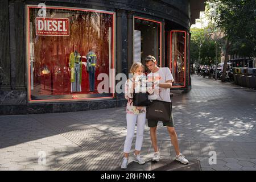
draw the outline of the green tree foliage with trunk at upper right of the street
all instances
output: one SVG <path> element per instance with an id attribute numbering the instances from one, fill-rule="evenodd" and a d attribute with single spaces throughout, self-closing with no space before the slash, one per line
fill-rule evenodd
<path id="1" fill-rule="evenodd" d="M 256 54 L 255 0 L 209 0 L 216 5 L 213 21 L 225 33 L 224 70 L 228 55 L 254 57 Z M 225 72 L 224 72 L 225 73 Z M 222 76 L 225 81 L 225 74 Z"/>

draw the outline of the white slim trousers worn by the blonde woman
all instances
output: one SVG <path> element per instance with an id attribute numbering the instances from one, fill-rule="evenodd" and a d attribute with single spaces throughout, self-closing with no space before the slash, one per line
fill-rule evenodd
<path id="1" fill-rule="evenodd" d="M 125 139 L 125 147 L 123 148 L 123 152 L 125 153 L 129 153 L 131 150 L 131 143 L 133 143 L 136 121 L 137 121 L 137 136 L 136 136 L 136 142 L 135 142 L 135 150 L 141 151 L 144 126 L 146 122 L 146 113 L 140 113 L 140 114 L 127 113 L 126 114 L 127 135 Z"/>

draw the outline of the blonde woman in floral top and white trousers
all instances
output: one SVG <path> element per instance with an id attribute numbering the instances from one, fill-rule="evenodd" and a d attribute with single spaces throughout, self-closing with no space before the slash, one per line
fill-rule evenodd
<path id="1" fill-rule="evenodd" d="M 133 106 L 133 92 L 135 88 L 138 88 L 137 86 L 141 86 L 141 82 L 139 80 L 145 76 L 143 71 L 143 65 L 141 63 L 135 62 L 133 65 L 131 65 L 130 69 L 130 73 L 133 73 L 133 78 L 128 79 L 125 83 L 125 98 L 128 100 L 126 106 L 127 135 L 125 139 L 125 146 L 123 148 L 123 160 L 121 164 L 122 169 L 127 168 L 128 157 L 131 150 L 131 143 L 133 142 L 136 122 L 137 137 L 135 142 L 134 161 L 138 162 L 139 164 L 145 163 L 139 153 L 141 152 L 144 125 L 146 122 L 146 107 Z M 147 89 L 147 92 L 152 94 L 152 89 Z"/>

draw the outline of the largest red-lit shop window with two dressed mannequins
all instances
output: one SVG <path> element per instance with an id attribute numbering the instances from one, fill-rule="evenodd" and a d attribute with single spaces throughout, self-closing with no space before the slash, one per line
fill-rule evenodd
<path id="1" fill-rule="evenodd" d="M 114 13 L 27 6 L 29 101 L 113 97 L 99 93 L 97 80 L 112 80 Z M 110 87 L 110 86 L 109 86 Z"/>

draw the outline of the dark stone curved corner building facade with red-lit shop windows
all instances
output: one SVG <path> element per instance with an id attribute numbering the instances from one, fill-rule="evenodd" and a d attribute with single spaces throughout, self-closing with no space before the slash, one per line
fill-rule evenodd
<path id="1" fill-rule="evenodd" d="M 203 2 L 2 0 L 0 114 L 124 106 L 117 75 L 147 55 L 189 92 L 189 27 Z"/>

